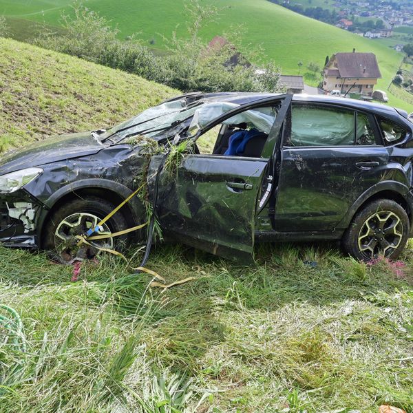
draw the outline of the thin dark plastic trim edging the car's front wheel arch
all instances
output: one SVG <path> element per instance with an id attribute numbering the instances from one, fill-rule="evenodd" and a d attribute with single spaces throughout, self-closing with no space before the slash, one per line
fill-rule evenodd
<path id="1" fill-rule="evenodd" d="M 70 193 L 74 193 L 80 189 L 107 189 L 112 192 L 115 192 L 123 200 L 125 200 L 129 195 L 133 193 L 133 191 L 128 187 L 125 187 L 125 185 L 120 184 L 119 182 L 115 182 L 113 180 L 91 178 L 71 182 L 70 184 L 67 184 L 64 187 L 58 189 L 56 192 L 50 195 L 50 197 L 47 198 L 47 200 L 45 200 L 45 208 L 41 210 L 41 213 L 39 213 L 39 216 L 36 220 L 36 233 L 39 240 L 41 240 L 41 231 L 43 229 L 43 224 L 45 223 L 45 220 L 50 210 L 53 209 L 56 203 L 59 202 L 59 200 L 61 200 L 63 197 L 69 195 Z M 137 197 L 134 197 L 131 200 L 129 200 L 128 204 L 131 208 L 131 211 L 133 211 L 134 213 L 132 218 L 135 224 L 137 224 L 138 217 L 142 216 L 142 213 L 145 213 L 143 204 Z"/>

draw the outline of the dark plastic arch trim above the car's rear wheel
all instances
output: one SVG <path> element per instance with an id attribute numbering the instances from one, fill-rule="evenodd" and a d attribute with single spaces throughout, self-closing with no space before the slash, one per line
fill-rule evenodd
<path id="1" fill-rule="evenodd" d="M 405 201 L 410 206 L 410 221 L 412 221 L 413 199 L 411 196 L 409 196 L 410 188 L 402 184 L 401 182 L 382 181 L 370 187 L 366 192 L 363 192 L 359 196 L 359 198 L 357 198 L 354 204 L 352 204 L 352 207 L 346 213 L 345 217 L 341 220 L 341 222 L 339 222 L 339 224 L 337 225 L 337 228 L 338 229 L 348 228 L 355 213 L 359 211 L 361 205 L 363 205 L 370 198 L 374 197 L 374 195 L 377 195 L 377 193 L 380 193 L 383 191 L 392 191 L 392 192 L 399 193 L 399 195 L 401 195 L 405 199 Z"/>

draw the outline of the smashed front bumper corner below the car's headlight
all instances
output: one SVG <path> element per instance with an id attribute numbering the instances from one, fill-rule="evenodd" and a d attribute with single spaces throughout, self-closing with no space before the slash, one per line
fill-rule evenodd
<path id="1" fill-rule="evenodd" d="M 37 221 L 43 207 L 24 190 L 0 194 L 0 243 L 7 247 L 38 248 Z"/>

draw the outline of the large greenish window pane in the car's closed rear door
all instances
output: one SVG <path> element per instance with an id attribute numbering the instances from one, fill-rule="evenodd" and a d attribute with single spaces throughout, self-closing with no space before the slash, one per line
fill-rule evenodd
<path id="1" fill-rule="evenodd" d="M 354 111 L 293 105 L 290 146 L 354 145 Z"/>

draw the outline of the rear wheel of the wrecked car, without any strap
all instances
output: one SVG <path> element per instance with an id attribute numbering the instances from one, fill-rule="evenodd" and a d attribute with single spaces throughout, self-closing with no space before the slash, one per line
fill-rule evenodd
<path id="1" fill-rule="evenodd" d="M 367 204 L 354 216 L 343 235 L 344 250 L 360 261 L 379 255 L 399 257 L 410 233 L 407 213 L 397 202 L 380 199 Z"/>

